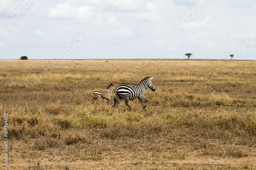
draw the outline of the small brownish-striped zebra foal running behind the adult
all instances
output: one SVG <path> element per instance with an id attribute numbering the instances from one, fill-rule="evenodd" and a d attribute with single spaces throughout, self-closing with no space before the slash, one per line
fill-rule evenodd
<path id="1" fill-rule="evenodd" d="M 94 104 L 95 104 L 95 101 L 96 101 L 96 103 L 99 107 L 99 99 L 103 98 L 103 99 L 106 99 L 106 102 L 107 102 L 104 109 L 109 105 L 109 101 L 111 102 L 111 105 L 112 105 L 111 98 L 112 98 L 113 92 L 115 90 L 115 87 L 116 87 L 116 83 L 112 82 L 106 89 L 96 88 L 95 90 L 93 90 L 93 102 L 94 102 Z M 99 107 L 99 110 L 100 110 L 100 107 Z"/>

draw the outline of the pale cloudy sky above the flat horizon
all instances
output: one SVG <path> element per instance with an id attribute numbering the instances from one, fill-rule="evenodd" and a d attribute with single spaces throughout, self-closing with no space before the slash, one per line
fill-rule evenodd
<path id="1" fill-rule="evenodd" d="M 1 0 L 0 59 L 256 59 L 255 0 Z"/>

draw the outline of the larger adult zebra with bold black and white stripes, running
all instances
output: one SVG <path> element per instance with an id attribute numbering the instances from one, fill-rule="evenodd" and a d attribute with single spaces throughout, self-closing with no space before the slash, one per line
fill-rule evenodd
<path id="1" fill-rule="evenodd" d="M 155 91 L 155 86 L 153 79 L 154 77 L 147 77 L 139 84 L 131 84 L 131 83 L 121 83 L 116 87 L 115 98 L 114 98 L 114 106 L 117 104 L 119 109 L 121 99 L 125 100 L 125 105 L 128 106 L 130 109 L 132 107 L 129 105 L 129 100 L 139 99 L 140 103 L 142 104 L 143 109 L 146 110 L 146 104 L 148 100 L 145 98 L 146 88 L 150 87 L 152 91 Z M 144 106 L 143 101 L 146 101 Z"/>

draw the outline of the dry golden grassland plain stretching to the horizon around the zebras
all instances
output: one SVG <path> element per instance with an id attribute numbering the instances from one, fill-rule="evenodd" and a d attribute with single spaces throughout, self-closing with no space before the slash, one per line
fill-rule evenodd
<path id="1" fill-rule="evenodd" d="M 0 66 L 0 136 L 8 113 L 9 169 L 256 168 L 256 61 L 0 60 Z M 93 105 L 93 89 L 148 76 L 155 76 L 156 91 L 146 91 L 147 111 L 138 100 L 130 102 L 135 111 L 124 101 L 119 112 Z"/>

